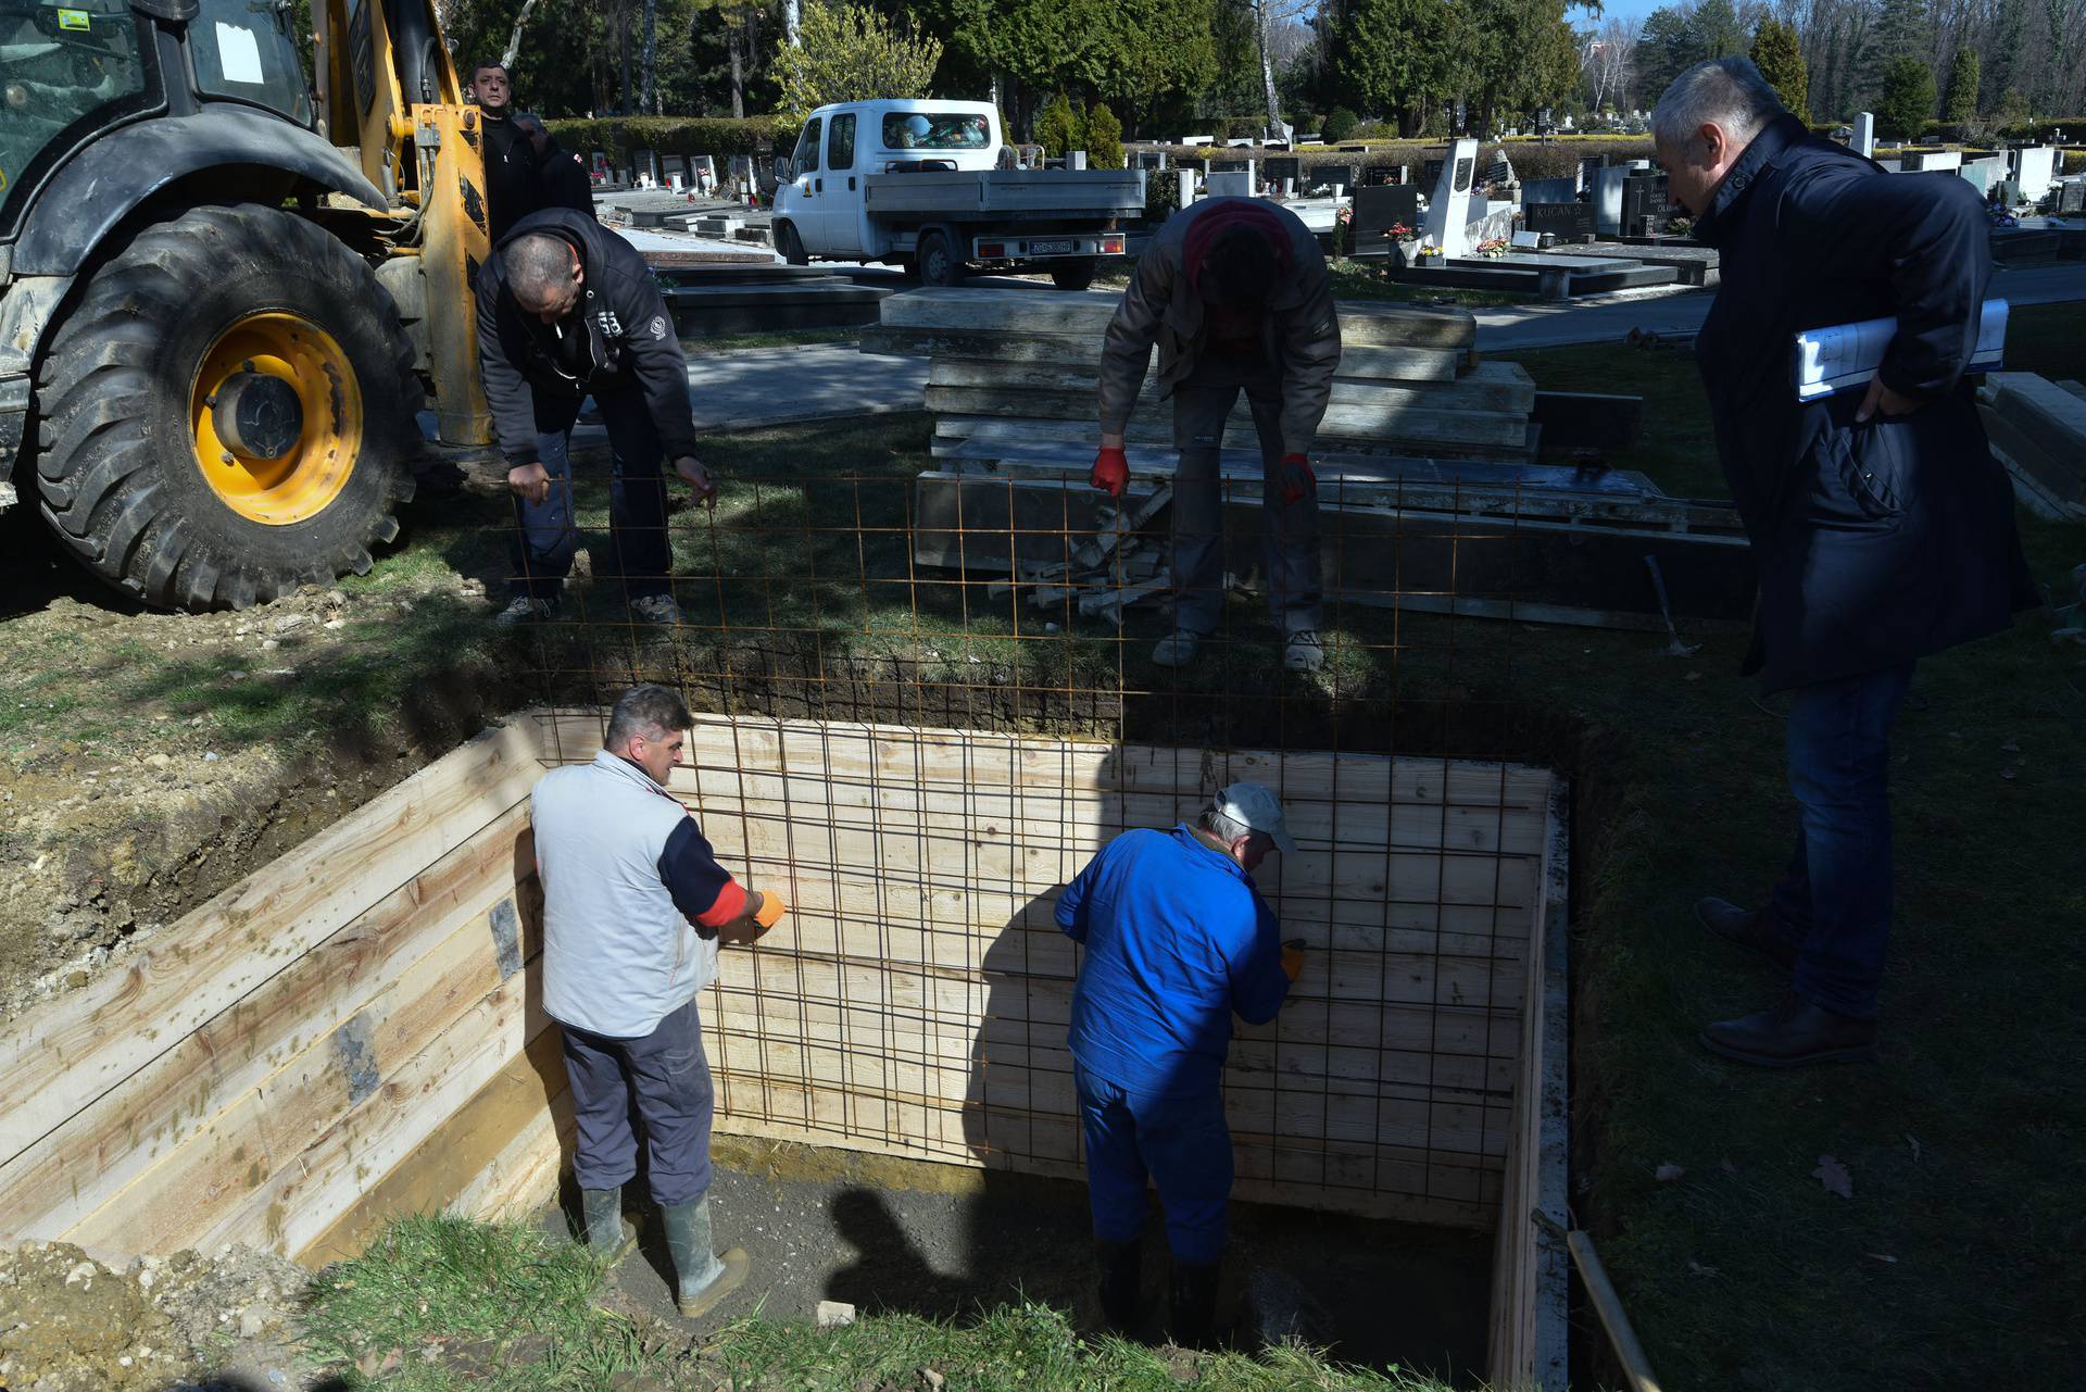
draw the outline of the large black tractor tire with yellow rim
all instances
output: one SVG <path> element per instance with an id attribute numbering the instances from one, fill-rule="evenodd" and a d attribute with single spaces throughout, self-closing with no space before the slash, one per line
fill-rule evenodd
<path id="1" fill-rule="evenodd" d="M 44 357 L 44 518 L 148 605 L 244 609 L 369 570 L 419 405 L 361 257 L 280 209 L 190 209 L 94 271 Z"/>

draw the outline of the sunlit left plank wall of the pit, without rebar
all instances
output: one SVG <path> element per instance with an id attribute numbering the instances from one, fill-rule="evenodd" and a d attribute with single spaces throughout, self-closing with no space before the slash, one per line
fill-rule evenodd
<path id="1" fill-rule="evenodd" d="M 490 730 L 8 1023 L 0 1238 L 325 1261 L 384 1213 L 540 1198 L 540 772 L 534 724 Z"/>

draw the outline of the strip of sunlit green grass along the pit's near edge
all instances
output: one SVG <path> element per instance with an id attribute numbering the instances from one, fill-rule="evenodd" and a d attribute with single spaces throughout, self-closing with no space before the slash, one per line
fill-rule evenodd
<path id="1" fill-rule="evenodd" d="M 603 1277 L 586 1248 L 538 1227 L 409 1217 L 319 1273 L 307 1346 L 355 1392 L 597 1392 L 620 1373 L 688 1392 L 857 1392 L 930 1386 L 924 1369 L 960 1392 L 1170 1392 L 1185 1379 L 1212 1392 L 1446 1392 L 1302 1348 L 1256 1359 L 1085 1338 L 1039 1304 L 960 1323 L 866 1315 L 830 1331 L 753 1315 L 697 1336 L 601 1309 Z"/>

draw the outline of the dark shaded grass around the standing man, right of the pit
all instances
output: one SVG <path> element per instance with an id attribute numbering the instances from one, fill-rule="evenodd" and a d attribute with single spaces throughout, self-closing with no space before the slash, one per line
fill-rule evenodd
<path id="1" fill-rule="evenodd" d="M 2086 311 L 2017 311 L 2009 357 L 2086 371 Z M 1539 386 L 1633 390 L 1631 455 L 1673 493 L 1723 495 L 1694 357 L 1529 353 Z M 2040 580 L 2086 561 L 2086 528 L 2021 518 Z M 1529 643 L 1521 693 L 1612 735 L 1581 795 L 1575 1089 L 1579 1215 L 1652 1363 L 1679 1388 L 2067 1386 L 2086 1348 L 2086 922 L 2078 789 L 2086 649 L 2051 620 L 1923 662 L 1892 747 L 1898 914 L 1877 1066 L 1725 1064 L 1702 1023 L 1779 983 L 1704 941 L 1696 895 L 1756 902 L 1794 835 L 1786 701 L 1736 678 L 1740 632 L 1694 659 L 1619 634 Z M 1583 651 L 1581 651 L 1583 649 Z M 1832 1154 L 1854 1198 L 1811 1177 Z M 1654 1179 L 1660 1165 L 1683 1177 Z M 1884 1261 L 1892 1258 L 1892 1261 Z"/>

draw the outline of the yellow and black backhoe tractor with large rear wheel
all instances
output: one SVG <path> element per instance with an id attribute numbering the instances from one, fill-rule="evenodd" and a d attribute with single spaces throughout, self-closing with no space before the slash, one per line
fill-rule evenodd
<path id="1" fill-rule="evenodd" d="M 142 603 L 369 568 L 486 436 L 478 111 L 432 0 L 0 0 L 0 505 Z"/>

